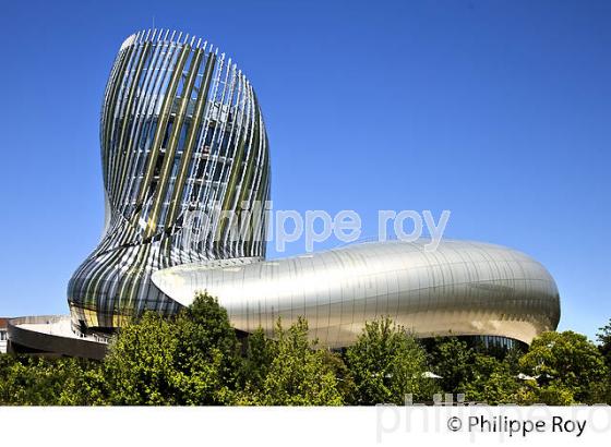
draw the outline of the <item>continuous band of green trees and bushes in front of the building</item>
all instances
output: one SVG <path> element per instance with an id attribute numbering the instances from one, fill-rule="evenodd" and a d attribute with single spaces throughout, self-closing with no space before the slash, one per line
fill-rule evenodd
<path id="1" fill-rule="evenodd" d="M 227 312 L 201 293 L 175 317 L 146 312 L 131 322 L 103 361 L 0 355 L 0 404 L 369 406 L 430 403 L 441 392 L 489 404 L 611 403 L 611 322 L 600 330 L 599 346 L 550 331 L 526 352 L 456 337 L 426 349 L 383 317 L 331 351 L 303 318 L 238 339 Z"/>

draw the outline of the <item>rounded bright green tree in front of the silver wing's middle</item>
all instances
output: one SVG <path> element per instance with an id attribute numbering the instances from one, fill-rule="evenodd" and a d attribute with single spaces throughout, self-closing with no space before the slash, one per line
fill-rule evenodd
<path id="1" fill-rule="evenodd" d="M 388 317 L 367 323 L 356 343 L 346 352 L 348 369 L 356 384 L 356 403 L 404 403 L 406 395 L 415 400 L 431 400 L 431 379 L 427 353 L 404 327 Z"/>

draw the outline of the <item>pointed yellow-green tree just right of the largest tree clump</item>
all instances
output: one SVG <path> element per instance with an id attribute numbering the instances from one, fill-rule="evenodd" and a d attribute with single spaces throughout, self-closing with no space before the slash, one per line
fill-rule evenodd
<path id="1" fill-rule="evenodd" d="M 284 330 L 278 321 L 273 340 L 259 350 L 261 388 L 247 387 L 240 403 L 264 406 L 339 406 L 343 403 L 337 379 L 326 362 L 324 350 L 308 339 L 303 318 Z M 263 354 L 261 354 L 263 352 Z M 254 359 L 251 359 L 254 360 Z M 264 364 L 269 361 L 268 364 Z"/>

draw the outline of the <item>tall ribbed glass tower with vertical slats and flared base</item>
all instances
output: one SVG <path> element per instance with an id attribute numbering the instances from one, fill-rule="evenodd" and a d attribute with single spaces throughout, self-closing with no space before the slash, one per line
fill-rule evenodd
<path id="1" fill-rule="evenodd" d="M 106 88 L 100 144 L 104 235 L 68 288 L 81 330 L 121 326 L 145 309 L 176 312 L 151 282 L 159 268 L 265 255 L 263 210 L 243 239 L 229 238 L 230 219 L 201 218 L 269 194 L 261 110 L 225 53 L 176 32 L 130 36 Z"/>

